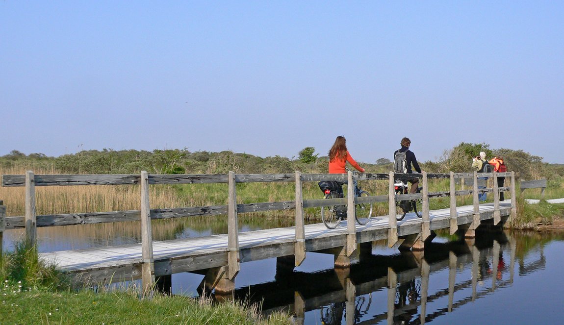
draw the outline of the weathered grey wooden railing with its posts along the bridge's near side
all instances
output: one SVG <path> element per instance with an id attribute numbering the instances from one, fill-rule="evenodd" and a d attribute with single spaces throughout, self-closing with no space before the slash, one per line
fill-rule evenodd
<path id="1" fill-rule="evenodd" d="M 239 234 L 237 226 L 237 215 L 246 212 L 260 212 L 272 210 L 295 209 L 296 218 L 296 237 L 295 237 L 295 257 L 296 265 L 300 265 L 305 259 L 305 221 L 304 208 L 331 206 L 333 204 L 347 205 L 347 255 L 351 255 L 356 249 L 356 224 L 355 224 L 355 203 L 377 203 L 388 202 L 389 204 L 389 225 L 388 241 L 392 247 L 398 241 L 398 226 L 396 223 L 396 201 L 406 201 L 422 198 L 423 216 L 421 234 L 425 240 L 430 235 L 429 220 L 429 199 L 450 196 L 450 233 L 453 234 L 458 229 L 456 219 L 456 196 L 473 195 L 474 219 L 470 229 L 475 229 L 480 224 L 478 193 L 493 192 L 493 219 L 497 224 L 500 217 L 499 192 L 510 191 L 512 197 L 512 210 L 510 220 L 515 216 L 515 176 L 510 173 L 479 173 L 480 177 L 510 177 L 510 186 L 497 188 L 497 182 L 493 182 L 493 188 L 478 189 L 478 173 L 410 173 L 394 174 L 390 173 L 361 173 L 348 174 L 302 174 L 280 173 L 280 174 L 235 174 L 229 172 L 224 175 L 154 175 L 143 171 L 141 175 L 34 175 L 28 171 L 25 175 L 3 175 L 2 186 L 25 186 L 25 216 L 24 217 L 5 217 L 3 210 L 0 210 L 0 217 L 4 220 L 0 222 L 0 238 L 4 229 L 25 228 L 26 238 L 29 243 L 35 244 L 37 241 L 37 227 L 64 226 L 77 224 L 95 224 L 101 222 L 121 222 L 131 220 L 141 220 L 142 233 L 142 259 L 143 259 L 143 283 L 150 284 L 154 281 L 154 260 L 152 255 L 152 231 L 151 220 L 168 219 L 175 217 L 188 216 L 210 216 L 227 214 L 228 216 L 228 277 L 235 277 L 239 271 Z M 422 179 L 422 193 L 395 195 L 394 181 L 407 180 L 413 178 Z M 456 190 L 455 179 L 473 177 L 472 190 Z M 352 180 L 387 180 L 389 182 L 389 193 L 386 195 L 376 195 L 371 197 L 355 198 L 352 190 Z M 429 179 L 450 179 L 450 190 L 444 192 L 429 192 Z M 302 194 L 302 182 L 334 180 L 347 184 L 347 197 L 337 199 L 309 199 L 304 200 Z M 237 204 L 236 188 L 237 182 L 295 182 L 296 197 L 293 201 L 284 202 L 261 202 Z M 151 209 L 149 202 L 149 185 L 153 184 L 228 184 L 228 203 L 222 206 L 204 207 L 182 207 Z M 140 185 L 140 210 L 133 211 L 112 211 L 112 212 L 86 212 L 86 213 L 67 213 L 59 215 L 36 215 L 36 186 L 68 186 L 68 185 Z M 152 278 L 151 278 L 152 277 Z"/>

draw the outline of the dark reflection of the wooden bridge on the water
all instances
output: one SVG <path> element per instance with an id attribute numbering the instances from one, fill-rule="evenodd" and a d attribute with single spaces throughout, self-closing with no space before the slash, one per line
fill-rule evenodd
<path id="1" fill-rule="evenodd" d="M 423 324 L 510 286 L 515 246 L 515 240 L 504 233 L 483 233 L 475 243 L 468 239 L 429 243 L 425 252 L 404 251 L 401 255 L 384 256 L 364 250 L 359 263 L 350 268 L 316 273 L 292 271 L 279 259 L 276 281 L 239 288 L 235 297 L 261 302 L 266 314 L 275 310 L 294 313 L 296 324 L 303 324 L 306 311 L 317 309 L 321 309 L 321 321 L 326 325 L 341 324 L 343 316 L 346 324 Z M 504 251 L 509 251 L 510 265 L 505 265 Z M 519 275 L 543 269 L 545 263 L 541 250 L 537 261 L 519 261 Z M 431 274 L 446 269 L 448 283 L 440 290 L 428 292 Z M 460 279 L 460 269 L 469 269 L 470 277 Z M 479 283 L 487 281 L 491 281 L 490 287 L 479 287 Z M 370 305 L 382 304 L 382 300 L 372 298 L 373 293 L 384 291 L 386 311 L 370 315 Z M 455 300 L 455 292 L 464 293 Z M 428 304 L 443 297 L 448 297 L 448 305 L 428 310 Z"/>

